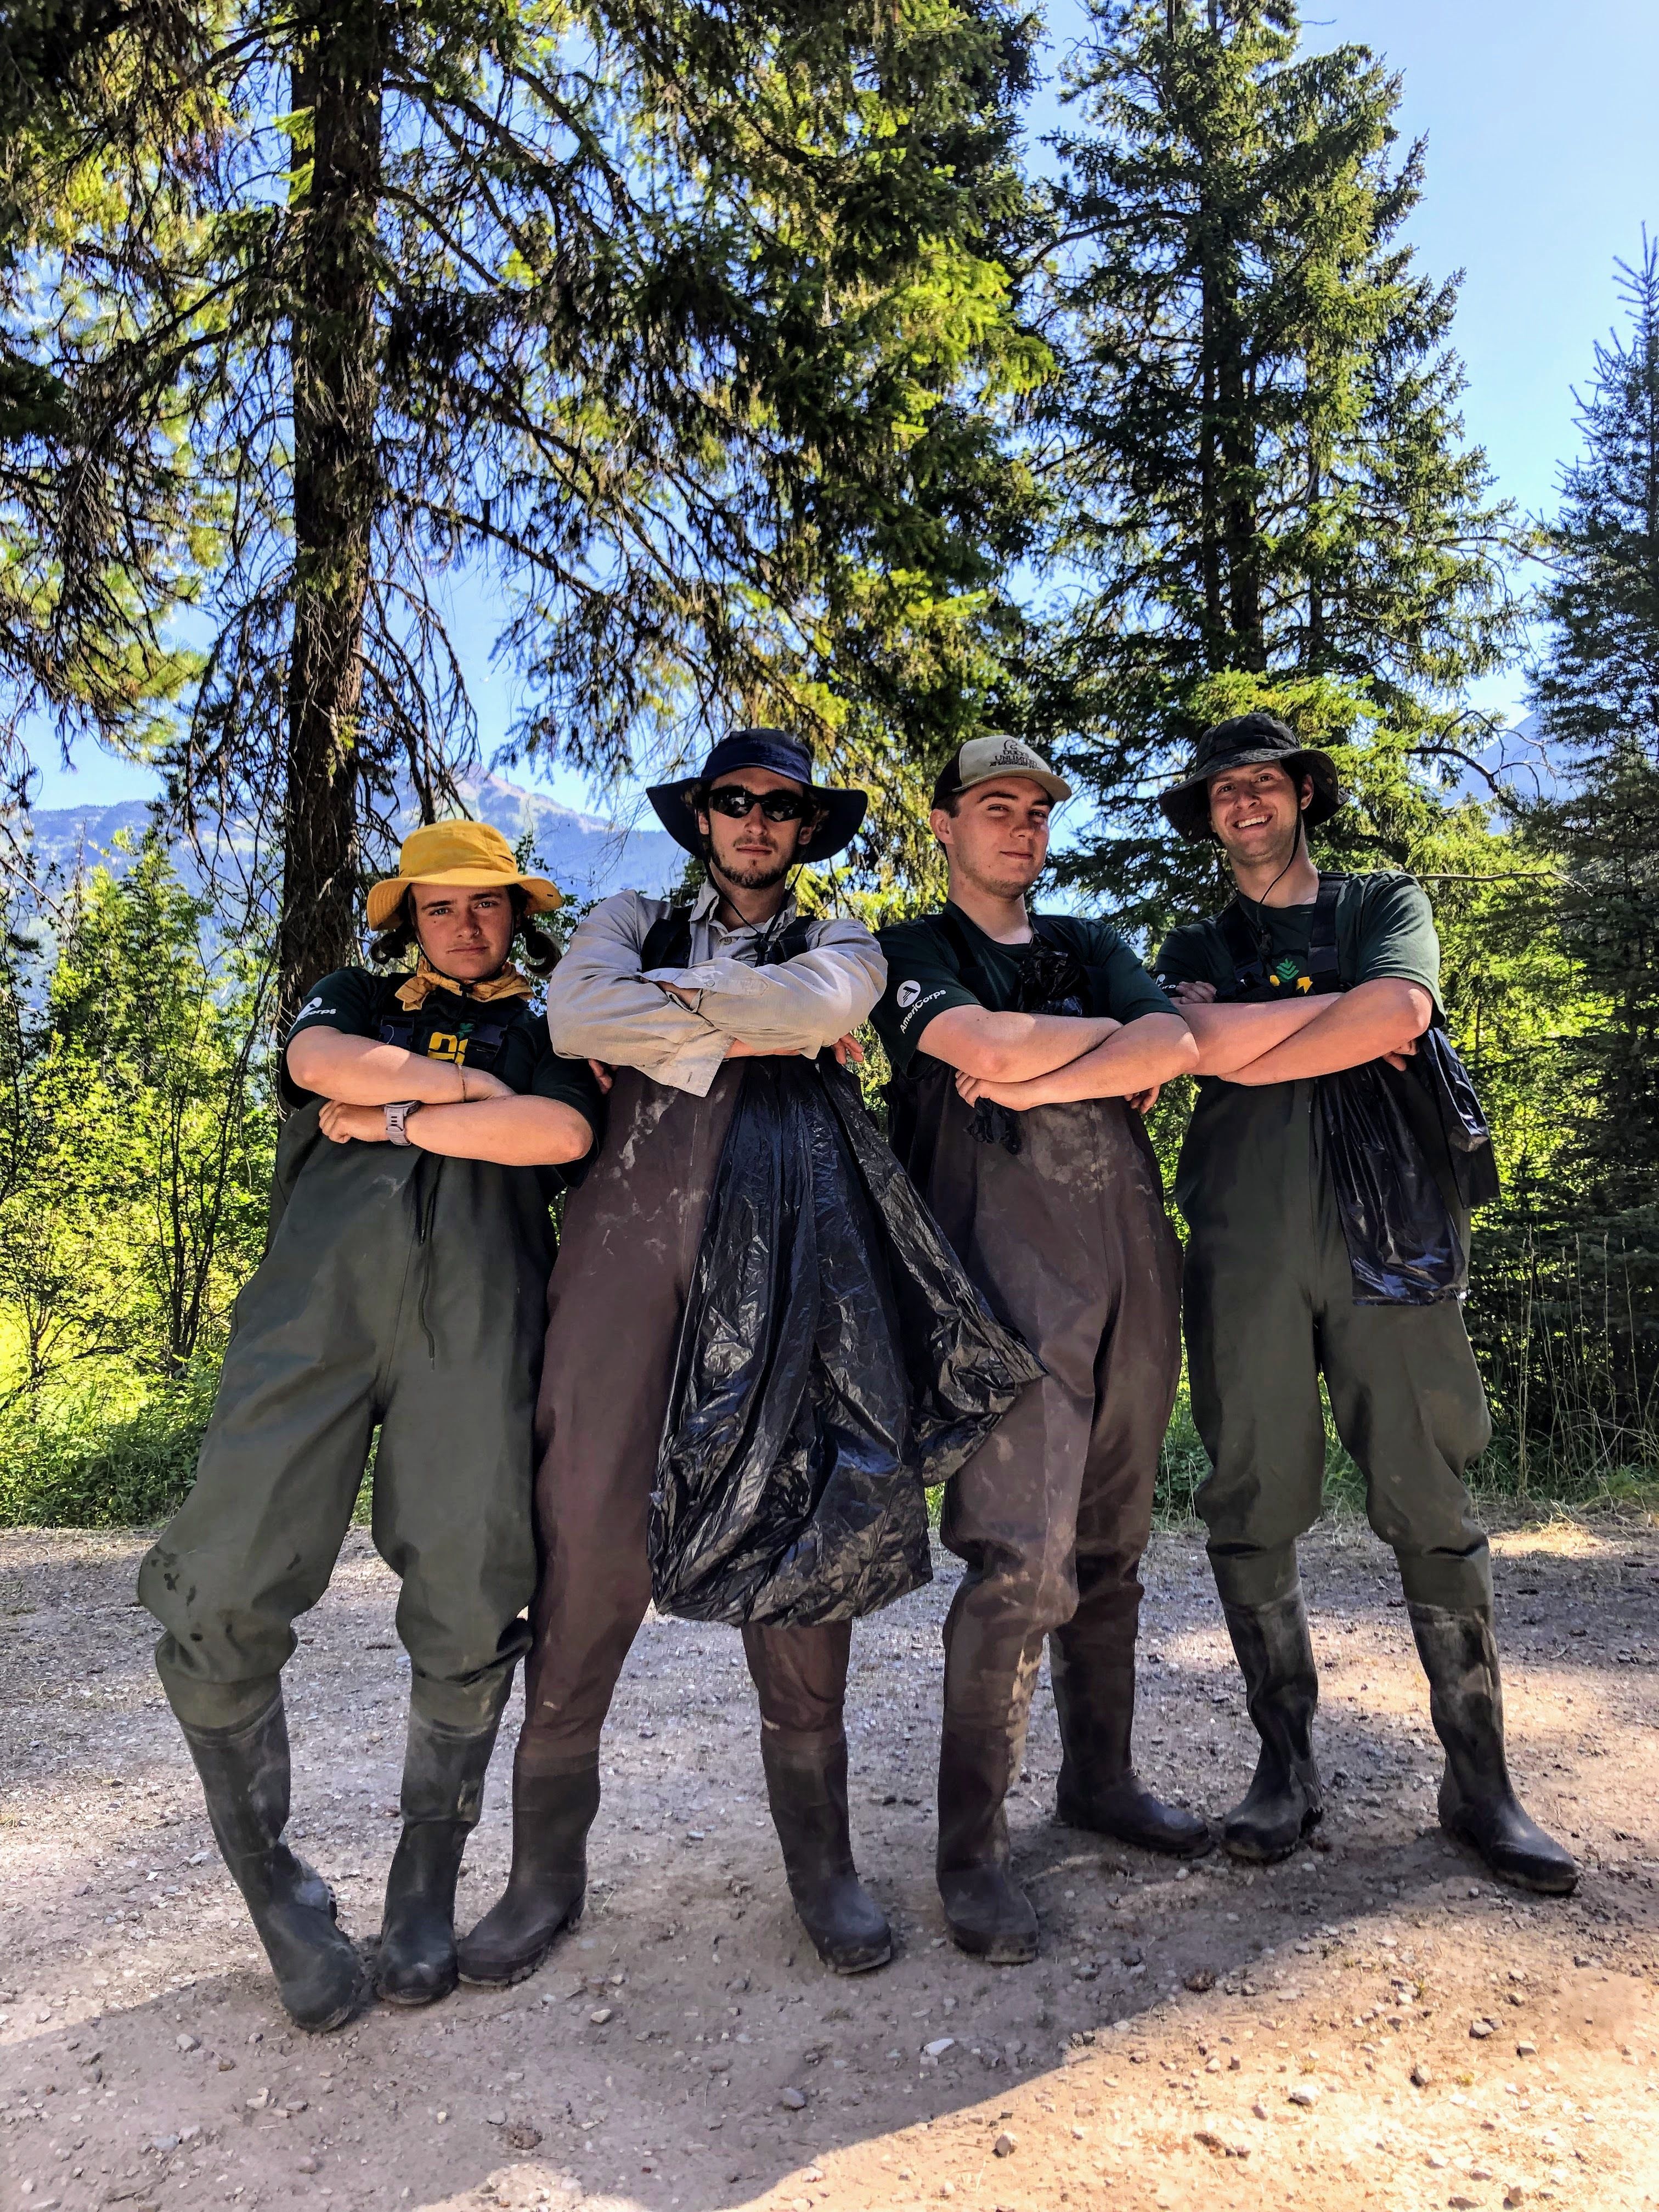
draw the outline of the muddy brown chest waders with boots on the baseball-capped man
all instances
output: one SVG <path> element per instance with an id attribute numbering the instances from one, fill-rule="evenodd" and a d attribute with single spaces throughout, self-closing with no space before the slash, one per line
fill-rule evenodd
<path id="1" fill-rule="evenodd" d="M 967 931 L 953 938 L 962 980 L 989 995 Z M 1075 958 L 1029 962 L 1022 984 L 1024 1013 L 1104 1011 Z M 938 1885 L 956 1942 L 1013 1964 L 1035 1955 L 1037 1918 L 1004 1807 L 1044 1637 L 1057 1818 L 1177 1856 L 1210 1845 L 1203 1820 L 1146 1790 L 1130 1750 L 1139 1559 L 1181 1367 L 1179 1252 L 1121 1099 L 975 1115 L 922 1055 L 891 1104 L 896 1148 L 956 1254 L 1048 1369 L 947 1484 L 940 1522 L 967 1573 L 945 1621 Z"/>

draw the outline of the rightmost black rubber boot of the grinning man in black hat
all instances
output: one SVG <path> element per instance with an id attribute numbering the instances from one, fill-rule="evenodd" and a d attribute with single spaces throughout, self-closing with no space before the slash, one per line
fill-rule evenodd
<path id="1" fill-rule="evenodd" d="M 1573 1854 L 1522 1807 L 1504 1759 L 1504 1688 L 1491 1613 L 1409 1604 L 1429 1677 L 1433 1730 L 1447 1750 L 1440 1827 L 1478 1851 L 1502 1882 L 1564 1898 L 1577 1887 Z"/>

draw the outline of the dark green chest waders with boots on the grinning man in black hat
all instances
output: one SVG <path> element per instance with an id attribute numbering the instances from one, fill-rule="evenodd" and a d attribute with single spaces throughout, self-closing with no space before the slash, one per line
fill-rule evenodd
<path id="1" fill-rule="evenodd" d="M 1312 916 L 1312 991 L 1340 991 L 1340 878 Z M 1296 989 L 1256 947 L 1234 900 L 1219 916 L 1234 1004 Z M 1509 1785 L 1491 1562 L 1464 1469 L 1491 1425 L 1455 1303 L 1358 1305 L 1325 1161 L 1318 1084 L 1199 1086 L 1175 1197 L 1188 1221 L 1183 1318 L 1192 1418 L 1210 1455 L 1197 1509 L 1261 1739 L 1256 1772 L 1223 1820 L 1254 1863 L 1285 1858 L 1323 1816 L 1314 1761 L 1318 1674 L 1296 1540 L 1323 1506 L 1325 1420 L 1365 1475 L 1365 1509 L 1394 1548 L 1433 1723 L 1447 1750 L 1440 1820 L 1526 1889 L 1571 1889 L 1577 1869 Z M 1467 1219 L 1462 1223 L 1467 1239 Z"/>

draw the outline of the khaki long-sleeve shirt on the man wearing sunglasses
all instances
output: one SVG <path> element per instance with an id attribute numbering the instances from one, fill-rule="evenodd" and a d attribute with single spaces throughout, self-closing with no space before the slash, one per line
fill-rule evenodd
<path id="1" fill-rule="evenodd" d="M 732 1037 L 812 1057 L 869 1015 L 887 962 L 863 922 L 821 916 L 805 953 L 757 967 L 768 929 L 787 927 L 794 900 L 774 922 L 743 929 L 723 929 L 717 905 L 708 885 L 690 909 L 690 967 L 648 973 L 639 960 L 666 898 L 619 891 L 586 914 L 546 987 L 553 1051 L 706 1097 Z"/>

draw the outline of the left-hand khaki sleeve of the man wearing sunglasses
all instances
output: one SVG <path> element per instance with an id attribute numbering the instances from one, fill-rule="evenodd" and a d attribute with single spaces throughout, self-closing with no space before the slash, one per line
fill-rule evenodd
<path id="1" fill-rule="evenodd" d="M 650 920 L 637 891 L 582 916 L 546 987 L 546 1033 L 568 1060 L 639 1068 L 670 1091 L 708 1097 L 732 1033 L 639 973 Z"/>

